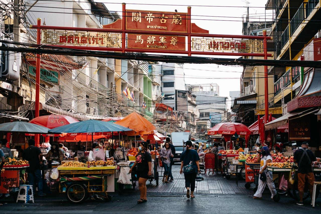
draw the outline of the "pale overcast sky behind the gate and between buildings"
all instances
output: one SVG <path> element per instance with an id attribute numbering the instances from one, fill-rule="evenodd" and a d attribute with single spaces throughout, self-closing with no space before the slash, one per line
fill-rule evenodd
<path id="1" fill-rule="evenodd" d="M 118 11 L 121 15 L 121 4 L 113 3 L 126 3 L 126 9 L 141 9 L 151 11 L 168 11 L 187 13 L 187 6 L 172 6 L 175 5 L 190 5 L 192 7 L 192 23 L 197 26 L 209 30 L 211 34 L 234 34 L 242 35 L 242 17 L 246 14 L 246 6 L 249 2 L 250 17 L 256 17 L 255 21 L 264 21 L 264 6 L 267 0 L 225 0 L 225 1 L 208 1 L 208 0 L 96 0 L 103 2 L 108 10 Z M 136 3 L 136 4 L 130 4 Z M 138 4 L 139 3 L 139 4 Z M 165 5 L 142 5 L 142 4 L 165 4 Z M 202 6 L 196 6 L 202 5 Z M 205 6 L 203 6 L 205 5 Z M 214 7 L 214 6 L 240 6 L 240 7 Z M 252 8 L 251 8 L 252 7 Z M 253 8 L 256 7 L 256 8 Z M 261 7 L 261 8 L 257 8 Z M 259 14 L 261 13 L 261 14 Z M 268 13 L 268 12 L 267 12 Z M 219 16 L 219 17 L 214 17 Z M 220 17 L 225 16 L 225 17 Z M 261 16 L 261 17 L 259 17 Z M 238 17 L 238 18 L 231 18 Z M 259 20 L 258 18 L 262 18 Z M 219 21 L 220 20 L 220 21 Z M 224 21 L 233 20 L 233 21 Z M 253 19 L 254 20 L 254 19 Z M 251 20 L 250 20 L 251 21 Z M 207 56 L 209 57 L 209 56 Z M 211 56 L 212 57 L 212 56 Z M 217 56 L 213 56 L 217 57 Z M 223 57 L 223 56 L 218 56 Z M 234 56 L 225 58 L 235 58 Z M 240 90 L 240 76 L 242 67 L 236 66 L 223 66 L 217 64 L 185 64 L 185 74 L 187 84 L 206 84 L 217 83 L 220 86 L 220 96 L 229 96 L 229 91 Z"/>

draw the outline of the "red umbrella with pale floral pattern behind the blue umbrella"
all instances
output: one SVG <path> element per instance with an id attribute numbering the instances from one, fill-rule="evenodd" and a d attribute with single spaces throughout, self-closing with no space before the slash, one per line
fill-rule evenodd
<path id="1" fill-rule="evenodd" d="M 32 120 L 30 120 L 29 123 L 42 125 L 44 127 L 47 127 L 49 129 L 53 129 L 59 126 L 63 126 L 66 124 L 72 124 L 77 123 L 79 120 L 71 117 L 71 116 L 65 116 L 65 115 L 45 115 L 45 116 L 39 116 Z"/>

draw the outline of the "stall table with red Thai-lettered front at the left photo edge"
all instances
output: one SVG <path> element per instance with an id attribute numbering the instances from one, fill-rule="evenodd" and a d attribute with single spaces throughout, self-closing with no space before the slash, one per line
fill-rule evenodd
<path id="1" fill-rule="evenodd" d="M 5 165 L 0 173 L 0 198 L 9 193 L 16 201 L 20 184 L 24 184 L 24 178 L 21 177 L 25 173 L 25 169 L 29 164 L 23 165 Z"/>

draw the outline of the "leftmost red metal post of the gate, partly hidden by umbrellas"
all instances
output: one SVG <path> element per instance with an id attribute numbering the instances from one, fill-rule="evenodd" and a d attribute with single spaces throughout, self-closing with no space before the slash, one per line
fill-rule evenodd
<path id="1" fill-rule="evenodd" d="M 40 27 L 41 19 L 37 19 L 37 26 Z M 41 43 L 41 29 L 37 28 L 37 45 Z M 36 98 L 35 98 L 35 117 L 39 117 L 39 93 L 40 93 L 40 54 L 36 56 Z M 35 135 L 35 146 L 39 145 L 39 134 Z"/>

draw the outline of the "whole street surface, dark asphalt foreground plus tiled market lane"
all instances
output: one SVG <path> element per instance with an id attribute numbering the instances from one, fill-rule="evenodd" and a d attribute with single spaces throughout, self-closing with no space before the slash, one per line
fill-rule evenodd
<path id="1" fill-rule="evenodd" d="M 90 201 L 82 204 L 71 204 L 64 194 L 51 194 L 36 197 L 35 203 L 24 204 L 2 200 L 0 213 L 307 213 L 321 212 L 321 198 L 312 208 L 309 199 L 304 206 L 296 205 L 289 196 L 281 196 L 279 202 L 270 198 L 269 190 L 265 190 L 262 200 L 253 196 L 254 184 L 250 189 L 244 187 L 245 181 L 236 185 L 235 178 L 226 180 L 221 175 L 205 175 L 204 181 L 196 182 L 195 198 L 187 199 L 184 191 L 184 175 L 179 174 L 179 165 L 173 167 L 173 183 L 160 183 L 156 186 L 152 181 L 147 186 L 148 201 L 137 204 L 139 191 L 124 189 L 112 193 L 112 201 Z M 184 193 L 185 192 L 185 193 Z"/>

